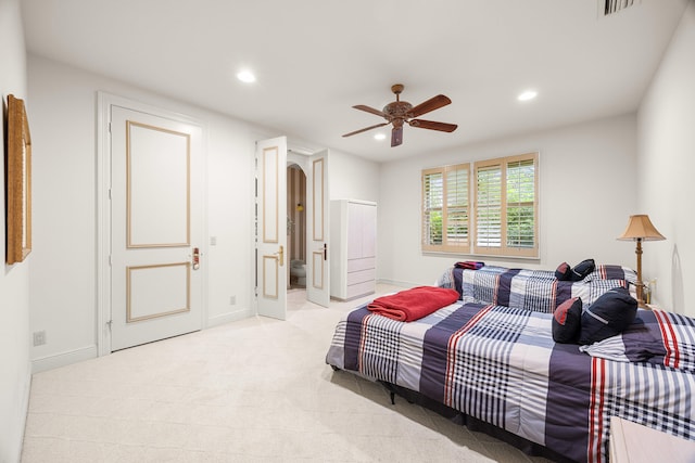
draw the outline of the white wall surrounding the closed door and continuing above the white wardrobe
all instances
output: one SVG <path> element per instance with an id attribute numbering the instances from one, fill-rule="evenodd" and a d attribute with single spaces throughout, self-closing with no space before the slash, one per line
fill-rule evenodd
<path id="1" fill-rule="evenodd" d="M 217 113 L 39 56 L 29 56 L 34 136 L 35 265 L 31 331 L 47 344 L 31 350 L 40 371 L 97 355 L 96 102 L 97 91 L 197 119 L 206 132 L 207 319 L 214 325 L 252 314 L 253 156 L 255 141 L 275 137 Z M 331 151 L 332 194 L 378 194 L 378 165 Z M 351 177 L 361 182 L 351 182 Z M 334 193 L 334 192 L 338 193 Z M 231 296 L 236 304 L 230 304 Z"/>

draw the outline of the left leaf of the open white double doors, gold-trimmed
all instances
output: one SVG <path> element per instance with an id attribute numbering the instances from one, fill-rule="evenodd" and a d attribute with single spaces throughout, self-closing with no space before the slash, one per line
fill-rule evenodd
<path id="1" fill-rule="evenodd" d="M 261 316 L 287 318 L 287 139 L 256 143 L 256 304 Z"/>

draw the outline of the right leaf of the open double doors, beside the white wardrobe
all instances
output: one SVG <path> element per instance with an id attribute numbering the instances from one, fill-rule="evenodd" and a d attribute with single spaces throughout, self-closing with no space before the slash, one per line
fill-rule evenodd
<path id="1" fill-rule="evenodd" d="M 328 190 L 328 150 L 309 156 L 306 179 L 307 266 L 306 298 L 324 307 L 330 304 L 330 198 Z"/>

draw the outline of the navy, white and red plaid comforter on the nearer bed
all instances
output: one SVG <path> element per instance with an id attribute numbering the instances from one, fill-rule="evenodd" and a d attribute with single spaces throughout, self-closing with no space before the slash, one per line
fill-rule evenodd
<path id="1" fill-rule="evenodd" d="M 555 344 L 549 313 L 458 303 L 405 323 L 363 307 L 339 323 L 326 361 L 418 391 L 578 462 L 606 462 L 614 415 L 695 440 L 693 370 L 660 360 L 692 359 L 695 327 L 692 319 L 665 313 L 639 311 L 642 336 L 626 336 L 623 349 L 648 339 L 655 357 L 634 362 Z M 673 333 L 681 333 L 678 343 Z M 659 343 L 666 356 L 658 357 Z"/>

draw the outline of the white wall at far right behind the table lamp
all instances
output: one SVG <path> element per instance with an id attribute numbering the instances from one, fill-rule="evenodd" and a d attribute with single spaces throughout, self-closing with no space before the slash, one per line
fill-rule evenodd
<path id="1" fill-rule="evenodd" d="M 640 210 L 666 241 L 643 245 L 655 303 L 695 316 L 695 1 L 691 0 L 639 112 Z"/>

